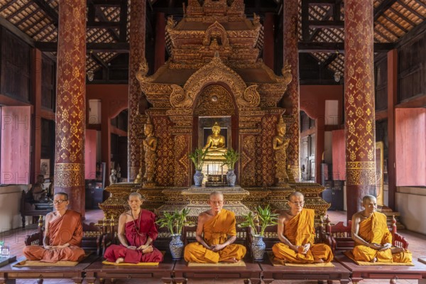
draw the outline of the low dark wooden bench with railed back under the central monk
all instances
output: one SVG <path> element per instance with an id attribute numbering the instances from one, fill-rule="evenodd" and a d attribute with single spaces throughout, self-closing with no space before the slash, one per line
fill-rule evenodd
<path id="1" fill-rule="evenodd" d="M 184 243 L 190 244 L 195 239 L 195 231 L 197 226 L 186 226 L 184 229 Z M 248 246 L 249 229 L 236 228 L 236 241 L 234 244 L 241 244 Z M 187 266 L 185 260 L 177 261 L 175 268 L 173 268 L 173 281 L 175 283 L 187 283 L 188 279 L 242 279 L 244 283 L 261 283 L 261 268 L 258 263 L 253 262 L 249 256 L 249 249 L 247 249 L 244 262 L 246 266 Z"/>

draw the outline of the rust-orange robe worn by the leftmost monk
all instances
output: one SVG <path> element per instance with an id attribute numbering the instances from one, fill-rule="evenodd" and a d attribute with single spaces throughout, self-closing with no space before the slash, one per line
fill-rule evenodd
<path id="1" fill-rule="evenodd" d="M 82 216 L 67 210 L 62 217 L 48 224 L 49 246 L 70 244 L 63 249 L 44 249 L 43 246 L 26 246 L 23 254 L 28 261 L 55 263 L 58 261 L 80 261 L 84 251 L 80 248 L 83 236 Z"/>

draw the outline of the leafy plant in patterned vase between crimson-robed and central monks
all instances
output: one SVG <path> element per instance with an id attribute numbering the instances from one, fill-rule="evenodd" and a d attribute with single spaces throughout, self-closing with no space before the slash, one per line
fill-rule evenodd
<path id="1" fill-rule="evenodd" d="M 191 223 L 187 222 L 187 215 L 190 213 L 190 209 L 182 209 L 182 211 L 175 210 L 175 212 L 164 212 L 163 217 L 158 219 L 155 223 L 160 228 L 167 227 L 172 236 L 170 241 L 170 252 L 174 260 L 182 258 L 183 242 L 180 239 L 182 236 L 182 229 L 184 226 L 189 226 Z"/>

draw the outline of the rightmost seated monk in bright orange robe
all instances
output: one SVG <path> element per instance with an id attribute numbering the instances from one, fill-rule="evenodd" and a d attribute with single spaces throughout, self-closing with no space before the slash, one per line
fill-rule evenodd
<path id="1" fill-rule="evenodd" d="M 392 247 L 392 234 L 386 215 L 376 212 L 377 200 L 372 195 L 362 199 L 364 210 L 352 217 L 352 250 L 356 261 L 410 263 L 412 255 L 403 248 Z"/>

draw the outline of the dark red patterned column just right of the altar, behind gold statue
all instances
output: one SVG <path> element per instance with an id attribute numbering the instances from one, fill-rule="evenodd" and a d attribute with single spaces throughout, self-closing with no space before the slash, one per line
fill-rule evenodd
<path id="1" fill-rule="evenodd" d="M 300 179 L 299 149 L 300 149 L 300 94 L 299 94 L 299 53 L 297 50 L 297 0 L 283 1 L 283 59 L 291 65 L 293 80 L 287 86 L 287 96 L 290 98 L 291 109 L 286 109 L 285 115 L 291 116 L 288 121 L 287 135 L 290 143 L 287 148 L 287 165 L 293 172 L 296 181 Z"/>

